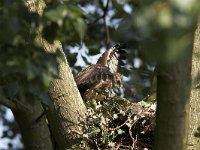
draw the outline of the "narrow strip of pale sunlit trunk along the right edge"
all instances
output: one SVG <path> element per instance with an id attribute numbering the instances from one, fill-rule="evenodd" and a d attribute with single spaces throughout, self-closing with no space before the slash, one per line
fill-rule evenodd
<path id="1" fill-rule="evenodd" d="M 200 18 L 195 32 L 192 55 L 192 88 L 189 105 L 189 129 L 187 150 L 200 150 L 200 138 L 194 136 L 200 126 Z M 198 86 L 198 87 L 197 87 Z"/>

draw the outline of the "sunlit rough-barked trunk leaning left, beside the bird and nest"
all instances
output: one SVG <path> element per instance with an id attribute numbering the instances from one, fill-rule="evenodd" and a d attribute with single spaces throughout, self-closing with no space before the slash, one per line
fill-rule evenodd
<path id="1" fill-rule="evenodd" d="M 45 3 L 42 0 L 29 0 L 26 2 L 30 11 L 42 14 Z M 80 144 L 81 127 L 84 121 L 86 107 L 80 96 L 68 62 L 60 42 L 48 43 L 38 35 L 38 41 L 43 45 L 47 53 L 61 52 L 62 59 L 58 59 L 59 78 L 55 79 L 50 88 L 49 95 L 53 101 L 54 109 L 48 111 L 47 118 L 56 146 L 59 149 L 67 149 Z M 65 60 L 65 61 L 63 61 Z"/>

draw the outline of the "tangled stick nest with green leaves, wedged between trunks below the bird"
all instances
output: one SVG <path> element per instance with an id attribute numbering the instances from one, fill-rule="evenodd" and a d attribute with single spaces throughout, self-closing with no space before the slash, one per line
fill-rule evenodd
<path id="1" fill-rule="evenodd" d="M 152 150 L 155 104 L 121 97 L 87 101 L 83 137 L 91 149 Z"/>

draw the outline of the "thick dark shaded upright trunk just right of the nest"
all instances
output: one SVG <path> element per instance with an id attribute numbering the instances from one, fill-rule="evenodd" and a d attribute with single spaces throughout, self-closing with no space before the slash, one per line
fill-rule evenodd
<path id="1" fill-rule="evenodd" d="M 192 50 L 188 50 L 191 54 Z M 191 55 L 158 66 L 155 150 L 182 150 L 190 94 Z"/>

